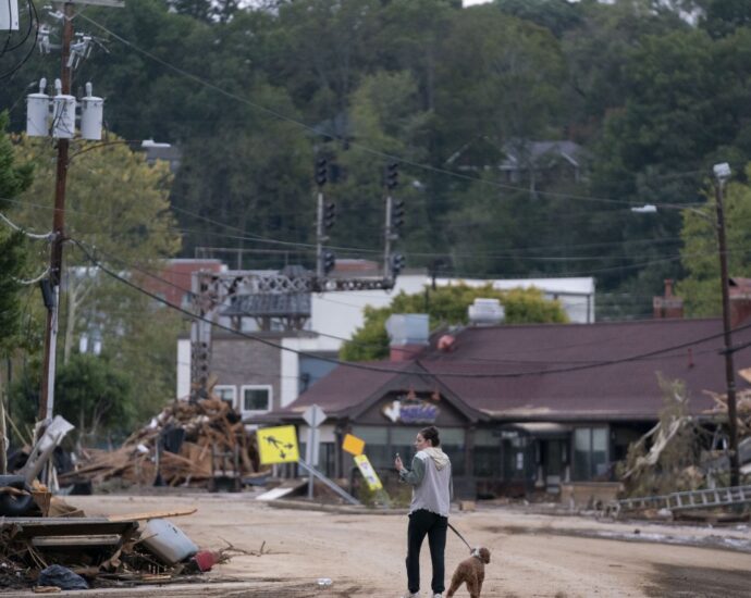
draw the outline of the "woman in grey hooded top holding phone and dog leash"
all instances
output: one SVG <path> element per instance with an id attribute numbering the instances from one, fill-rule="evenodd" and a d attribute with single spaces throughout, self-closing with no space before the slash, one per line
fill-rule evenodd
<path id="1" fill-rule="evenodd" d="M 433 598 L 441 598 L 445 589 L 444 551 L 448 509 L 453 486 L 451 461 L 440 448 L 441 439 L 435 426 L 422 428 L 415 439 L 417 453 L 411 470 L 407 470 L 397 454 L 394 468 L 399 479 L 413 486 L 407 527 L 407 588 L 405 598 L 414 598 L 420 591 L 420 547 L 426 535 L 430 546 L 430 561 L 433 566 L 431 588 Z"/>

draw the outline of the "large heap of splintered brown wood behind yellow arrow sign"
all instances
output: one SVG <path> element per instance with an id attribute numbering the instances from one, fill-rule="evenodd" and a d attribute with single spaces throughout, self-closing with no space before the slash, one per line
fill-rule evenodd
<path id="1" fill-rule="evenodd" d="M 61 484 L 121 478 L 130 484 L 208 486 L 259 474 L 255 433 L 248 433 L 226 401 L 173 401 L 113 451 L 84 449 L 75 471 Z"/>

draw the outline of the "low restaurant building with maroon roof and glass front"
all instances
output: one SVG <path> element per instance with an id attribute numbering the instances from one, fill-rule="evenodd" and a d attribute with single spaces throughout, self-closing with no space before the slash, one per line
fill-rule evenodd
<path id="1" fill-rule="evenodd" d="M 737 316 L 751 304 L 749 296 L 735 303 Z M 736 365 L 747 367 L 751 326 L 734 341 L 746 344 Z M 613 479 L 628 445 L 658 419 L 658 374 L 686 383 L 698 418 L 714 406 L 704 390 L 725 391 L 719 319 L 469 326 L 426 342 L 396 347 L 396 360 L 340 365 L 267 421 L 298 424 L 305 438 L 301 413 L 321 407 L 321 466 L 332 476 L 350 466 L 345 434 L 362 438 L 385 471 L 395 452 L 410 459 L 415 434 L 435 424 L 463 494 L 521 495 Z"/>

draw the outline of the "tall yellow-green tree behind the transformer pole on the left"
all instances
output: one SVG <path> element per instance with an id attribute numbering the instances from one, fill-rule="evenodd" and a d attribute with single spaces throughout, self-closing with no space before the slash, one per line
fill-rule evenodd
<path id="1" fill-rule="evenodd" d="M 37 176 L 12 214 L 22 225 L 38 227 L 48 217 L 51 222 L 44 198 L 53 197 L 52 148 L 21 138 L 15 150 L 19 159 L 35 164 Z M 111 272 L 143 284 L 180 249 L 181 236 L 168 201 L 170 182 L 165 164 L 147 164 L 143 153 L 116 138 L 100 147 L 76 142 L 67 175 L 66 235 Z M 130 379 L 135 408 L 153 412 L 174 395 L 181 319 L 156 309 L 147 296 L 95 267 L 87 252 L 66 245 L 58 361 L 63 366 L 70 363 L 82 334 L 100 335 L 112 366 Z M 35 325 L 45 326 L 41 321 Z M 164 367 L 165 363 L 170 366 Z"/>

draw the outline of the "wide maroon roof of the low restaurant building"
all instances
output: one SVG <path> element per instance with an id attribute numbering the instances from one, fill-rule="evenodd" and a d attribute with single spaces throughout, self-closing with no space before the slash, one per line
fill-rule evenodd
<path id="1" fill-rule="evenodd" d="M 364 364 L 386 371 L 341 365 L 288 409 L 316 403 L 353 416 L 389 388 L 422 381 L 466 413 L 503 421 L 654 420 L 662 373 L 686 383 L 691 411 L 701 413 L 714 404 L 703 390 L 725 393 L 722 333 L 719 319 L 469 327 L 450 352 L 434 339 L 414 362 Z M 734 344 L 744 342 L 751 325 L 734 332 Z M 738 350 L 736 370 L 749 365 L 751 348 Z"/>

